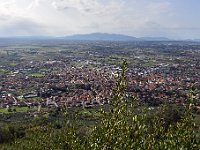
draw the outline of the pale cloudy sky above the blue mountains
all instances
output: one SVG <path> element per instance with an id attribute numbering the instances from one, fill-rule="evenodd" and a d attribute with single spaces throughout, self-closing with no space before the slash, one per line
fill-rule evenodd
<path id="1" fill-rule="evenodd" d="M 92 32 L 200 39 L 200 0 L 0 0 L 0 36 Z"/>

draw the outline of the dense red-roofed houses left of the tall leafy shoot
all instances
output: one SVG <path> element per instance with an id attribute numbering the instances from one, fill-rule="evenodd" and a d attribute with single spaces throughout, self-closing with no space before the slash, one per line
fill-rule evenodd
<path id="1" fill-rule="evenodd" d="M 0 107 L 93 107 L 109 103 L 117 71 L 56 63 L 52 62 L 51 72 L 42 77 L 27 76 L 20 70 L 1 76 Z"/>

